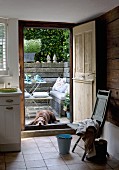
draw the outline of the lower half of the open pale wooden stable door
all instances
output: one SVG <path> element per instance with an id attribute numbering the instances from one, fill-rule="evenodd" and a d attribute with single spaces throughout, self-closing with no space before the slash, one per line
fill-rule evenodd
<path id="1" fill-rule="evenodd" d="M 92 105 L 90 103 L 92 103 L 93 100 L 92 83 L 92 81 L 74 80 L 74 89 L 76 91 L 74 99 L 74 113 L 76 113 L 74 114 L 75 122 L 91 117 Z"/>

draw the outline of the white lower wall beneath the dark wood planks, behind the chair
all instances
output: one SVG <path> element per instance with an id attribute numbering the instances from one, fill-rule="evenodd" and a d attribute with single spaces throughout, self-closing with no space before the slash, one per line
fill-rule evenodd
<path id="1" fill-rule="evenodd" d="M 119 127 L 105 122 L 103 138 L 108 142 L 108 152 L 119 160 Z"/>

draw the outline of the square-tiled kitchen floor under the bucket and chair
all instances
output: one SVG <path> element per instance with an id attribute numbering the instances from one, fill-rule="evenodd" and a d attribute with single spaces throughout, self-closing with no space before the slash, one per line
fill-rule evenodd
<path id="1" fill-rule="evenodd" d="M 77 139 L 72 137 L 71 148 Z M 82 154 L 77 146 L 75 153 L 60 155 L 56 136 L 23 138 L 21 152 L 0 153 L 0 170 L 119 170 L 119 160 L 110 157 L 98 165 L 81 161 Z"/>

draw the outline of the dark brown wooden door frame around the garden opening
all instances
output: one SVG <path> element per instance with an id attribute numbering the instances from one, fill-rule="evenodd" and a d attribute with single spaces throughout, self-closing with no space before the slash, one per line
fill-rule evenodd
<path id="1" fill-rule="evenodd" d="M 25 129 L 25 91 L 26 89 L 24 84 L 24 29 L 25 28 L 37 28 L 37 29 L 69 29 L 70 31 L 70 103 L 72 103 L 72 24 L 64 24 L 64 23 L 42 23 L 42 22 L 34 22 L 34 21 L 19 21 L 19 61 L 20 61 L 20 88 L 23 92 L 21 97 L 21 127 L 22 130 Z M 70 104 L 70 121 L 72 121 L 72 104 Z"/>

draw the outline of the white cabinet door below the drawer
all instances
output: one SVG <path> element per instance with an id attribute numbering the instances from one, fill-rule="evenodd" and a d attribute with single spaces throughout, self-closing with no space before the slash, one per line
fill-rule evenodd
<path id="1" fill-rule="evenodd" d="M 19 105 L 0 106 L 0 144 L 19 143 Z"/>

